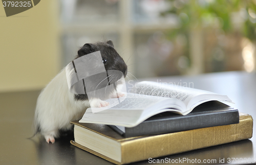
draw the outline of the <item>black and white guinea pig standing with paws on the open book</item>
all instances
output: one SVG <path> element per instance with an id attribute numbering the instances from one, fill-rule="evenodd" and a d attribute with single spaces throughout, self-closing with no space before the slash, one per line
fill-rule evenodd
<path id="1" fill-rule="evenodd" d="M 97 51 L 100 51 L 105 70 L 120 70 L 123 76 L 126 76 L 127 65 L 114 49 L 111 40 L 84 44 L 77 52 L 75 59 Z M 110 93 L 109 98 L 123 96 L 121 92 L 118 92 L 118 95 L 114 93 L 116 92 Z M 109 105 L 102 98 L 95 98 L 90 103 L 96 107 Z M 90 107 L 90 103 L 87 93 L 70 92 L 66 70 L 63 68 L 38 96 L 34 116 L 34 133 L 41 133 L 47 143 L 54 143 L 55 138 L 59 137 L 59 131 L 72 129 L 70 122 L 81 119 L 86 109 Z"/>

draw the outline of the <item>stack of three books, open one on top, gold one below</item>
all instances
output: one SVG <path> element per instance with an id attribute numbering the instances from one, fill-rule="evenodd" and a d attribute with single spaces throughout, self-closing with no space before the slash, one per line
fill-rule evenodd
<path id="1" fill-rule="evenodd" d="M 71 144 L 125 164 L 252 137 L 252 117 L 224 104 L 227 96 L 153 82 L 138 83 L 134 92 L 71 122 Z"/>

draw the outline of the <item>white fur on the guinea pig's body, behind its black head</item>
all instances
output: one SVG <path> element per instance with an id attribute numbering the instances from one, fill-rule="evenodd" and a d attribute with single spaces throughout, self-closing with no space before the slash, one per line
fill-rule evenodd
<path id="1" fill-rule="evenodd" d="M 54 143 L 58 130 L 71 129 L 70 121 L 81 119 L 89 101 L 75 101 L 74 94 L 69 91 L 66 71 L 61 72 L 41 91 L 35 110 L 35 128 L 46 141 Z"/>

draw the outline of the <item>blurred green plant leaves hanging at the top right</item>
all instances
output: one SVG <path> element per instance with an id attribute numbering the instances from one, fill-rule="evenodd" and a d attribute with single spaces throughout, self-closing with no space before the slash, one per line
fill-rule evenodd
<path id="1" fill-rule="evenodd" d="M 216 27 L 224 32 L 239 29 L 252 41 L 256 40 L 256 0 L 168 0 L 171 8 L 162 13 L 174 13 L 179 17 L 180 27 L 170 33 L 175 37 L 193 28 Z M 234 19 L 240 19 L 239 28 Z"/>

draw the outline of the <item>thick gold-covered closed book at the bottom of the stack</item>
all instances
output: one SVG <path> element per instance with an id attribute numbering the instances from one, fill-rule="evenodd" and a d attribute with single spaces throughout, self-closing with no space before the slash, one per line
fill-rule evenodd
<path id="1" fill-rule="evenodd" d="M 129 138 L 108 125 L 73 121 L 71 144 L 115 164 L 126 164 L 251 138 L 251 115 L 239 112 L 239 117 L 238 124 Z"/>

